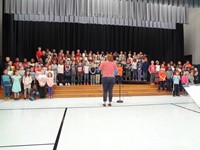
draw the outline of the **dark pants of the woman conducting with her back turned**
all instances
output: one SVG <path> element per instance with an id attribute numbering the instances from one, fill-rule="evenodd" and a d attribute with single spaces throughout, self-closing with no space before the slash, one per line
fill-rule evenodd
<path id="1" fill-rule="evenodd" d="M 107 101 L 107 93 L 109 93 L 109 102 L 112 102 L 113 97 L 113 87 L 115 84 L 115 77 L 103 77 L 103 101 Z"/>

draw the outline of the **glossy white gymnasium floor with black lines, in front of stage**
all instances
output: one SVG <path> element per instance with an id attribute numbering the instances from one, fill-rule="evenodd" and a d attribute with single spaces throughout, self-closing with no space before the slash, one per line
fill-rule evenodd
<path id="1" fill-rule="evenodd" d="M 0 100 L 0 150 L 199 150 L 190 96 Z"/>

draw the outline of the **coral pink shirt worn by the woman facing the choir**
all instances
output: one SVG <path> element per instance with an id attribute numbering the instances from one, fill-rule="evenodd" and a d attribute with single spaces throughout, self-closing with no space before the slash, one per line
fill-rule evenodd
<path id="1" fill-rule="evenodd" d="M 105 61 L 102 62 L 99 70 L 103 71 L 103 77 L 114 77 L 114 70 L 117 70 L 115 62 Z"/>

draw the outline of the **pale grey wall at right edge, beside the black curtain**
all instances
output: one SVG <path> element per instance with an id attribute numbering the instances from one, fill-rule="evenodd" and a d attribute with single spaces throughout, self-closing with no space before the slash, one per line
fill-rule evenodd
<path id="1" fill-rule="evenodd" d="M 200 8 L 189 9 L 189 24 L 184 25 L 184 53 L 200 64 Z"/>

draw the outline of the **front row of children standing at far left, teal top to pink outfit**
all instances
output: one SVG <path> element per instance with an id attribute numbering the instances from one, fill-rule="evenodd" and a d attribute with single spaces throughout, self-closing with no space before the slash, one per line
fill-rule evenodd
<path id="1" fill-rule="evenodd" d="M 22 91 L 24 92 L 24 99 L 35 100 L 36 96 L 39 95 L 40 98 L 46 98 L 46 86 L 49 98 L 53 98 L 53 75 L 51 72 L 45 75 L 44 70 L 41 70 L 41 74 L 37 77 L 37 82 L 35 83 L 28 70 L 24 72 L 23 76 L 19 74 L 18 70 L 15 70 L 13 75 L 10 76 L 8 70 L 4 69 L 1 76 L 1 85 L 4 89 L 5 100 L 10 99 L 11 92 L 14 93 L 14 100 L 19 100 L 19 95 Z"/>

